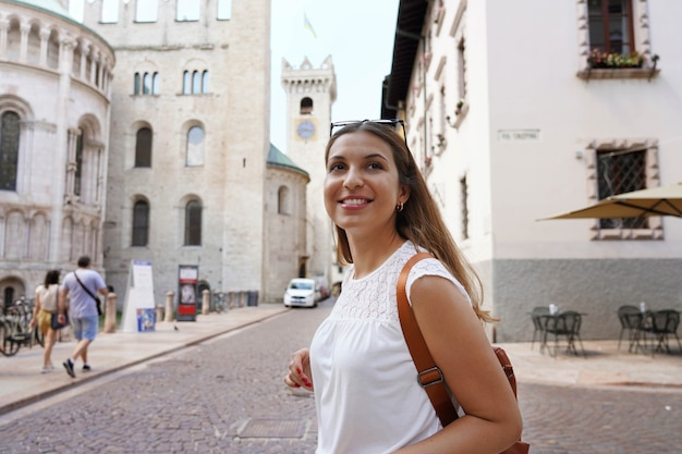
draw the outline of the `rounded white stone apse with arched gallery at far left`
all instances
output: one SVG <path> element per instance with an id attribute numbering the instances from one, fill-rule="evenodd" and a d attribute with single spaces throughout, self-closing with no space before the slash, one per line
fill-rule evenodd
<path id="1" fill-rule="evenodd" d="M 0 2 L 0 298 L 102 266 L 113 49 L 65 10 Z"/>

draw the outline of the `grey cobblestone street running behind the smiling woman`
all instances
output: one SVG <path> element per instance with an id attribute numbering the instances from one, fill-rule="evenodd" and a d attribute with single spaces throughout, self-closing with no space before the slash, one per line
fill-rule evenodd
<path id="1" fill-rule="evenodd" d="M 282 377 L 330 307 L 290 310 L 5 415 L 0 453 L 314 453 L 314 400 Z M 533 454 L 682 452 L 680 389 L 521 382 L 519 393 Z"/>

